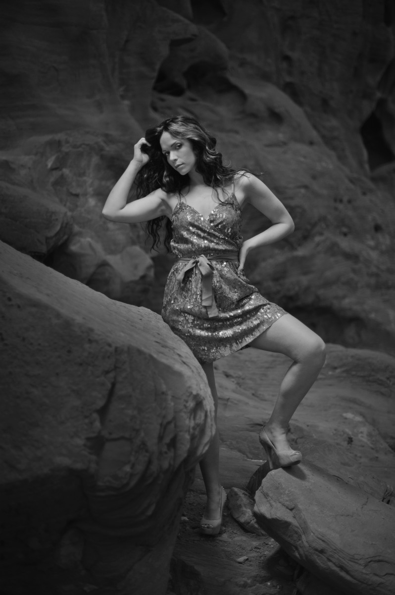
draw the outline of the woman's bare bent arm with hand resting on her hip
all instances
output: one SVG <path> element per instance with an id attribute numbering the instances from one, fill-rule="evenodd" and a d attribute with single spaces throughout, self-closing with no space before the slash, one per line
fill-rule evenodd
<path id="1" fill-rule="evenodd" d="M 248 252 L 258 246 L 266 246 L 282 240 L 289 236 L 295 229 L 292 217 L 277 196 L 270 189 L 252 174 L 246 173 L 239 178 L 239 196 L 243 196 L 245 202 L 249 202 L 263 213 L 270 221 L 271 226 L 257 236 L 250 237 L 242 243 L 239 251 L 239 271 L 244 267 Z"/>

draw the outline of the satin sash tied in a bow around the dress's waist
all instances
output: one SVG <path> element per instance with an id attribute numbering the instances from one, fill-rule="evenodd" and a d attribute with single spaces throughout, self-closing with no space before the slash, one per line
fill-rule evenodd
<path id="1" fill-rule="evenodd" d="M 214 254 L 213 256 L 204 256 L 201 254 L 194 258 L 178 258 L 177 262 L 187 262 L 187 264 L 176 277 L 177 281 L 182 283 L 185 273 L 192 268 L 198 267 L 201 272 L 201 304 L 202 306 L 206 306 L 208 318 L 218 315 L 213 291 L 213 272 L 215 269 L 210 261 L 238 262 L 239 256 L 238 252 L 223 252 L 222 254 Z"/>

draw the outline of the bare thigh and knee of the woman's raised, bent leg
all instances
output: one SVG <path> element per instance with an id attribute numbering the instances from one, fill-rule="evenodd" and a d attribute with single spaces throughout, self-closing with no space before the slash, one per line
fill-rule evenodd
<path id="1" fill-rule="evenodd" d="M 325 356 L 325 343 L 321 337 L 290 314 L 284 314 L 273 322 L 249 345 L 265 351 L 284 353 L 295 361 L 308 356 Z"/>

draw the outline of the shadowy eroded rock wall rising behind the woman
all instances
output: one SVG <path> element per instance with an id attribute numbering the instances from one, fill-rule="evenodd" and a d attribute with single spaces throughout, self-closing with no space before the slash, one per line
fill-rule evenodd
<path id="1" fill-rule="evenodd" d="M 157 260 L 153 278 L 140 226 L 100 212 L 144 129 L 192 114 L 235 167 L 264 173 L 295 220 L 291 237 L 248 257 L 263 295 L 327 341 L 393 352 L 390 2 L 5 0 L 1 10 L 0 171 L 12 217 L 29 221 L 28 189 L 34 211 L 48 215 L 35 201 L 49 198 L 70 219 L 38 249 L 17 224 L 0 227 L 3 240 L 83 283 L 74 261 L 90 244 L 103 255 L 90 259 L 91 286 L 159 311 L 165 274 Z M 246 209 L 246 237 L 266 225 Z M 35 230 L 33 217 L 26 236 Z M 125 279 L 110 261 L 130 246 L 148 256 L 136 251 L 140 276 Z"/>

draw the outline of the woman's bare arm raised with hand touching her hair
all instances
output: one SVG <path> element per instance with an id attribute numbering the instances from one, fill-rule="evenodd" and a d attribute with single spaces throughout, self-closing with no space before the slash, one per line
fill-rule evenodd
<path id="1" fill-rule="evenodd" d="M 110 221 L 140 223 L 141 221 L 168 215 L 169 212 L 171 214 L 171 208 L 165 200 L 166 193 L 160 188 L 144 196 L 144 198 L 127 204 L 132 183 L 138 171 L 146 165 L 149 159 L 146 153 L 141 152 L 141 145 L 144 143 L 148 144 L 146 139 L 143 138 L 134 146 L 132 161 L 109 193 L 108 199 L 103 206 L 102 215 Z"/>

